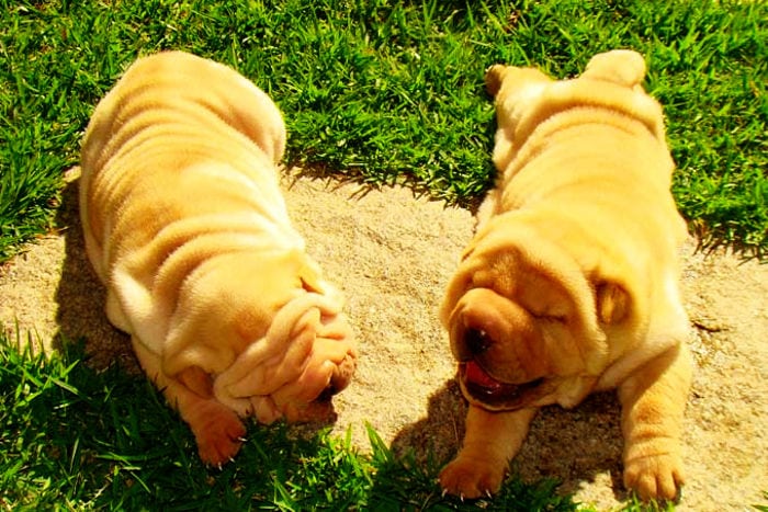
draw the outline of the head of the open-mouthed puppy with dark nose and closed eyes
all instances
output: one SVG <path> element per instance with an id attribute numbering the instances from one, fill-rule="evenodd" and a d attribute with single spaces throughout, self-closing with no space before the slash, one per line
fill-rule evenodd
<path id="1" fill-rule="evenodd" d="M 626 314 L 621 287 L 594 286 L 528 229 L 492 219 L 465 251 L 441 309 L 462 390 L 489 410 L 578 403 L 607 365 L 602 326 Z"/>

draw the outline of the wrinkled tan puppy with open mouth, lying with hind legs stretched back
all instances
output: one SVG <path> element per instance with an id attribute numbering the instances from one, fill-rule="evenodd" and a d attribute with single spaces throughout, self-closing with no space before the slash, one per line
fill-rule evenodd
<path id="1" fill-rule="evenodd" d="M 691 380 L 678 291 L 686 226 L 643 58 L 599 54 L 578 78 L 493 66 L 499 175 L 441 309 L 466 434 L 442 487 L 498 490 L 543 406 L 617 388 L 624 483 L 674 499 Z"/>

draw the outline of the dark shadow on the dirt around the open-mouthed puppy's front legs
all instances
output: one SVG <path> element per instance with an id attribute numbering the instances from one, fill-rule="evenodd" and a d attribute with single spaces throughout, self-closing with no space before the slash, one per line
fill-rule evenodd
<path id="1" fill-rule="evenodd" d="M 405 426 L 392 442 L 396 455 L 413 454 L 417 464 L 444 464 L 464 437 L 466 403 L 454 380 L 429 399 L 427 417 Z M 615 394 L 589 396 L 574 410 L 543 408 L 531 424 L 511 471 L 526 481 L 554 478 L 558 492 L 569 494 L 597 479 L 610 479 L 617 500 L 628 493 L 621 481 L 622 436 Z"/>

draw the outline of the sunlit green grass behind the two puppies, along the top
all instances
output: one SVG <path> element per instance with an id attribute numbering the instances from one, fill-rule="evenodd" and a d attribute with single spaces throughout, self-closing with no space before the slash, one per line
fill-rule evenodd
<path id="1" fill-rule="evenodd" d="M 490 185 L 483 70 L 578 72 L 647 56 L 679 164 L 674 193 L 708 246 L 768 247 L 768 4 L 427 0 L 0 2 L 0 261 L 52 228 L 95 102 L 138 55 L 182 48 L 272 94 L 290 163 L 475 204 Z"/>

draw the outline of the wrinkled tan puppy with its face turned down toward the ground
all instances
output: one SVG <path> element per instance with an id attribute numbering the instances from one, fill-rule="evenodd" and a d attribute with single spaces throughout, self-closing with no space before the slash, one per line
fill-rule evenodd
<path id="1" fill-rule="evenodd" d="M 329 419 L 354 371 L 340 293 L 280 193 L 284 147 L 264 92 L 182 52 L 137 60 L 82 145 L 80 215 L 106 315 L 208 464 L 238 452 L 241 418 Z"/>

